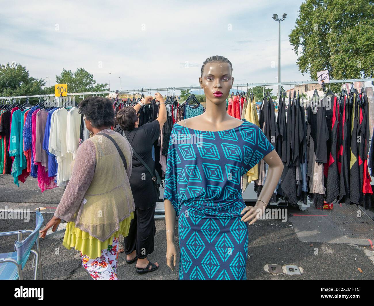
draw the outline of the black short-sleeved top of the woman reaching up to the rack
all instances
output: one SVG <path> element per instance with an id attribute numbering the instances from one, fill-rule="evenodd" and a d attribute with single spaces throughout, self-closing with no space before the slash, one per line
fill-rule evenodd
<path id="1" fill-rule="evenodd" d="M 122 127 L 119 125 L 115 129 L 122 135 Z M 151 170 L 154 170 L 155 163 L 152 158 L 152 146 L 160 135 L 160 123 L 154 120 L 145 123 L 141 127 L 124 132 L 132 148 L 140 155 Z M 132 155 L 132 172 L 129 178 L 132 196 L 135 207 L 141 210 L 150 208 L 155 204 L 156 189 L 151 175 L 140 160 Z"/>

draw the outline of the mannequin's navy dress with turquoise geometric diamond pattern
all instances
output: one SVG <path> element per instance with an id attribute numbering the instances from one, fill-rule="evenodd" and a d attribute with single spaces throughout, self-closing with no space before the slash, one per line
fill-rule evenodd
<path id="1" fill-rule="evenodd" d="M 246 279 L 240 178 L 274 148 L 255 124 L 208 132 L 174 124 L 164 199 L 178 220 L 179 279 Z"/>

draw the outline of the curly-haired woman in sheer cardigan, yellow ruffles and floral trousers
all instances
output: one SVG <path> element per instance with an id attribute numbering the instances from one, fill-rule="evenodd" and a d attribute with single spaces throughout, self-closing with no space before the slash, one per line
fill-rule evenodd
<path id="1" fill-rule="evenodd" d="M 114 111 L 109 99 L 87 98 L 79 112 L 93 137 L 80 145 L 70 182 L 40 234 L 44 238 L 49 228 L 56 231 L 66 220 L 62 244 L 82 253 L 82 265 L 93 279 L 117 280 L 119 235 L 128 235 L 135 210 L 129 183 L 132 149 L 110 129 Z"/>

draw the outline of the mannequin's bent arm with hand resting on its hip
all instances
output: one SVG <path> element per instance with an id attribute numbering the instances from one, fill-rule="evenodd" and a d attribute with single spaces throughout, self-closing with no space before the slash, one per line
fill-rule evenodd
<path id="1" fill-rule="evenodd" d="M 257 221 L 257 209 L 261 209 L 263 211 L 266 208 L 283 172 L 282 160 L 275 150 L 267 154 L 263 160 L 269 166 L 264 186 L 262 187 L 260 195 L 258 196 L 256 205 L 254 207 L 246 207 L 242 210 L 242 214 L 245 213 L 245 215 L 242 217 L 242 221 L 249 222 L 251 219 L 253 219 L 251 222 L 249 222 L 250 225 Z"/>

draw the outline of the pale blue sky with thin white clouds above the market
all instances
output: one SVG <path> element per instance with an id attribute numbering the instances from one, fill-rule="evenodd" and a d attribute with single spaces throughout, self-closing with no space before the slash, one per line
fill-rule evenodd
<path id="1" fill-rule="evenodd" d="M 110 72 L 111 90 L 198 86 L 213 55 L 232 62 L 234 84 L 276 82 L 274 13 L 287 13 L 281 81 L 310 80 L 288 40 L 303 1 L 1 2 L 0 63 L 18 62 L 47 86 L 80 67 L 98 83 L 109 83 Z"/>

